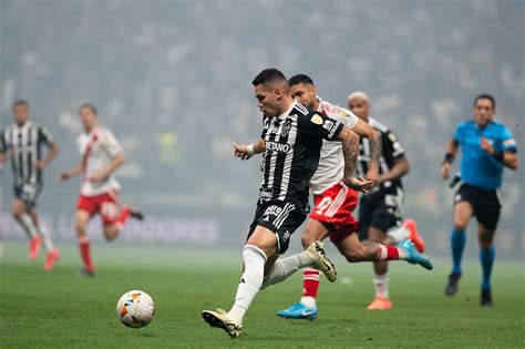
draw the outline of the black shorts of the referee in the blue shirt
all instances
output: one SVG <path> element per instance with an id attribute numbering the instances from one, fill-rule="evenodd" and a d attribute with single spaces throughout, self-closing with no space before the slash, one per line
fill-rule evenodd
<path id="1" fill-rule="evenodd" d="M 462 184 L 454 196 L 454 205 L 467 202 L 474 209 L 477 222 L 490 230 L 495 230 L 500 220 L 502 205 L 497 191 L 485 191 L 469 184 Z"/>

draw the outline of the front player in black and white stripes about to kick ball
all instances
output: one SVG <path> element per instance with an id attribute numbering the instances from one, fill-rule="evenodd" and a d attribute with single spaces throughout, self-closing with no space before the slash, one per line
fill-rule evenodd
<path id="1" fill-rule="evenodd" d="M 265 115 L 262 134 L 255 144 L 234 144 L 234 154 L 241 160 L 265 154 L 260 196 L 243 249 L 244 273 L 229 311 L 202 312 L 208 325 L 224 329 L 230 337 L 243 332 L 243 318 L 260 289 L 305 267 L 317 268 L 328 280 L 336 280 L 334 266 L 320 242 L 313 242 L 300 254 L 278 259 L 288 249 L 290 235 L 307 216 L 308 183 L 318 166 L 322 140 L 342 144 L 344 185 L 367 191 L 372 184 L 353 178 L 359 143 L 353 131 L 295 102 L 288 81 L 277 69 L 260 72 L 253 85 Z"/>

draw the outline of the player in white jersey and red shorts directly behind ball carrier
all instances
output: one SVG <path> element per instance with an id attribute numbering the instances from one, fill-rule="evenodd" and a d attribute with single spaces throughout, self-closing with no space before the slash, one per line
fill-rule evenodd
<path id="1" fill-rule="evenodd" d="M 370 165 L 366 174 L 361 173 L 361 176 L 372 176 L 377 181 L 378 160 L 381 152 L 380 134 L 349 110 L 322 101 L 317 95 L 317 89 L 309 76 L 296 75 L 289 80 L 289 84 L 291 95 L 296 101 L 344 123 L 357 134 L 366 137 L 361 138 L 361 142 L 367 141 L 367 144 L 370 145 L 368 148 Z M 387 258 L 388 254 L 382 255 L 382 248 L 378 249 L 380 245 L 362 245 L 354 236 L 359 224 L 352 217 L 352 212 L 358 203 L 358 193 L 341 185 L 342 165 L 341 146 L 337 143 L 323 142 L 319 167 L 310 181 L 316 207 L 310 214 L 306 229 L 302 232 L 302 245 L 308 246 L 311 242 L 322 240 L 329 236 L 330 240 L 334 243 L 349 261 L 373 261 L 381 257 Z M 371 250 L 368 250 L 367 247 Z M 394 254 L 395 247 L 385 246 L 385 248 L 390 248 Z M 362 256 L 356 259 L 359 254 L 362 254 Z M 302 298 L 300 301 L 291 305 L 288 309 L 279 310 L 278 316 L 310 320 L 317 318 L 316 298 L 319 288 L 319 271 L 306 269 L 302 275 Z"/>

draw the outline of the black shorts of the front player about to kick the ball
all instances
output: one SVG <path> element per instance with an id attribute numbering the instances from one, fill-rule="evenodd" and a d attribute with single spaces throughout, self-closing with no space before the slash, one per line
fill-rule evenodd
<path id="1" fill-rule="evenodd" d="M 284 254 L 290 244 L 291 234 L 305 222 L 307 215 L 307 212 L 290 202 L 259 201 L 248 238 L 258 225 L 268 228 L 277 236 L 277 252 Z"/>

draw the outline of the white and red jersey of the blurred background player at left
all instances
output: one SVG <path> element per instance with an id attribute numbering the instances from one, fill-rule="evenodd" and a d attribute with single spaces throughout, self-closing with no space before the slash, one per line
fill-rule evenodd
<path id="1" fill-rule="evenodd" d="M 83 132 L 76 140 L 79 153 L 82 156 L 84 177 L 80 193 L 85 196 L 96 196 L 110 191 L 119 191 L 120 184 L 110 175 L 100 183 L 92 183 L 89 178 L 106 168 L 113 158 L 122 152 L 122 146 L 115 135 L 102 127 L 95 126 L 89 134 Z"/>

